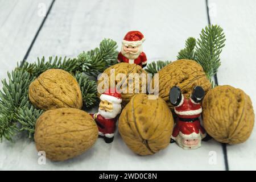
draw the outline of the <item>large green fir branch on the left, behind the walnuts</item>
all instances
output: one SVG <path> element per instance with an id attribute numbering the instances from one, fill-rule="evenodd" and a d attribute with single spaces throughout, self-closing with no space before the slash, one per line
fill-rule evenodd
<path id="1" fill-rule="evenodd" d="M 29 138 L 34 135 L 38 117 L 44 112 L 36 109 L 28 99 L 28 86 L 47 69 L 64 69 L 71 73 L 79 82 L 85 108 L 90 108 L 98 102 L 97 83 L 88 76 L 96 78 L 97 73 L 106 67 L 117 63 L 117 43 L 104 39 L 100 48 L 83 52 L 74 59 L 61 57 L 38 58 L 36 63 L 18 64 L 18 67 L 8 73 L 8 81 L 2 80 L 0 89 L 0 139 L 13 140 L 19 131 L 26 131 Z"/>

